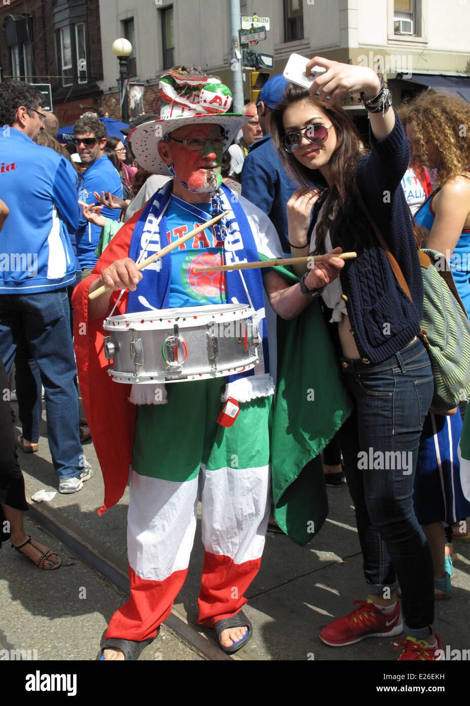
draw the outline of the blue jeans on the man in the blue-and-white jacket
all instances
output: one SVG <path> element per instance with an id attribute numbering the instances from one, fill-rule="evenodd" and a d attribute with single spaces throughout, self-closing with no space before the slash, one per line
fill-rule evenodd
<path id="1" fill-rule="evenodd" d="M 67 289 L 38 294 L 1 294 L 0 357 L 8 374 L 18 346 L 25 356 L 29 347 L 41 374 L 54 469 L 59 479 L 76 477 L 83 471 L 84 460 Z M 34 377 L 30 375 L 29 379 L 30 393 L 34 397 L 32 404 L 37 405 Z M 33 412 L 32 419 L 34 417 Z M 39 430 L 33 427 L 32 421 L 31 430 L 23 429 L 26 438 L 28 434 L 39 436 Z"/>

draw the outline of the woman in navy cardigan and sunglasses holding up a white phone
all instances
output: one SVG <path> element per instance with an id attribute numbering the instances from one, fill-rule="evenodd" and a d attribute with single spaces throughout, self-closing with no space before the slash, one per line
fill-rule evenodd
<path id="1" fill-rule="evenodd" d="M 412 501 L 433 374 L 417 337 L 423 284 L 401 186 L 409 147 L 390 92 L 371 68 L 316 56 L 307 74 L 315 65 L 326 71 L 310 92 L 291 84 L 273 112 L 273 139 L 287 171 L 302 184 L 287 203 L 292 253 L 334 252 L 336 247 L 357 252 L 333 282 L 320 272 L 316 286 L 307 289 L 332 310 L 330 321 L 337 329 L 332 335 L 355 402 L 339 436 L 366 589 L 366 600 L 323 628 L 320 638 L 342 647 L 405 630 L 399 659 L 436 659 L 441 642 L 435 634 L 433 562 Z M 360 93 L 369 114 L 370 152 L 338 106 L 350 91 Z M 371 220 L 400 265 L 412 301 L 398 284 Z M 297 273 L 302 275 L 302 269 Z M 392 455 L 400 464 L 390 461 Z M 342 608 L 328 610 L 338 614 Z"/>

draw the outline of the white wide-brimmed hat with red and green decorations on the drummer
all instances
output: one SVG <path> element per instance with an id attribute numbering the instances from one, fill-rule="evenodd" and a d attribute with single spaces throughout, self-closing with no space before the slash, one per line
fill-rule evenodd
<path id="1" fill-rule="evenodd" d="M 157 150 L 160 140 L 183 125 L 216 124 L 223 128 L 228 148 L 237 132 L 252 115 L 229 113 L 232 94 L 218 76 L 201 68 L 173 66 L 160 78 L 160 119 L 145 122 L 130 131 L 128 140 L 141 167 L 154 174 L 168 175 L 167 165 Z"/>

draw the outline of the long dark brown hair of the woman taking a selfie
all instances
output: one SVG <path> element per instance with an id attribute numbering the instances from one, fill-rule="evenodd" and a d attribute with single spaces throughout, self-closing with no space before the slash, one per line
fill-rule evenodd
<path id="1" fill-rule="evenodd" d="M 318 169 L 309 169 L 297 161 L 295 155 L 286 152 L 283 148 L 282 139 L 285 136 L 283 116 L 287 107 L 295 103 L 309 102 L 313 107 L 319 109 L 326 119 L 333 124 L 336 133 L 336 148 L 330 157 L 328 166 L 330 167 L 330 179 L 332 186 L 328 184 Z M 282 160 L 287 174 L 293 181 L 302 186 L 316 186 L 323 189 L 319 199 L 319 205 L 323 205 L 321 218 L 316 225 L 315 252 L 324 252 L 323 241 L 328 229 L 330 230 L 333 246 L 344 246 L 340 237 L 342 225 L 347 223 L 351 233 L 360 233 L 360 241 L 351 239 L 348 246 L 354 246 L 354 250 L 363 250 L 365 246 L 376 244 L 376 239 L 371 234 L 370 229 L 364 224 L 364 216 L 354 199 L 352 184 L 354 181 L 354 169 L 357 162 L 366 154 L 364 145 L 361 143 L 359 133 L 350 119 L 350 116 L 341 107 L 333 106 L 326 108 L 312 97 L 304 88 L 290 83 L 284 92 L 283 100 L 273 110 L 271 118 L 271 133 L 274 143 L 278 148 L 280 159 Z M 314 210 L 318 214 L 319 206 Z"/>

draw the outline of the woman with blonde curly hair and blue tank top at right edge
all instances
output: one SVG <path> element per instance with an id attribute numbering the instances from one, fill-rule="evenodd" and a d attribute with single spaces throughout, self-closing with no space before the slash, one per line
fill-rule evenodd
<path id="1" fill-rule="evenodd" d="M 470 106 L 446 93 L 426 90 L 404 105 L 402 121 L 418 164 L 435 170 L 430 196 L 414 215 L 423 246 L 445 255 L 470 313 Z M 461 405 L 462 412 L 466 405 Z M 414 508 L 433 554 L 436 599 L 449 598 L 454 573 L 451 525 L 470 515 L 462 492 L 457 447 L 459 409 L 451 417 L 428 414 L 423 425 L 414 484 Z M 447 525 L 444 529 L 443 523 Z M 447 534 L 447 546 L 445 546 Z"/>

